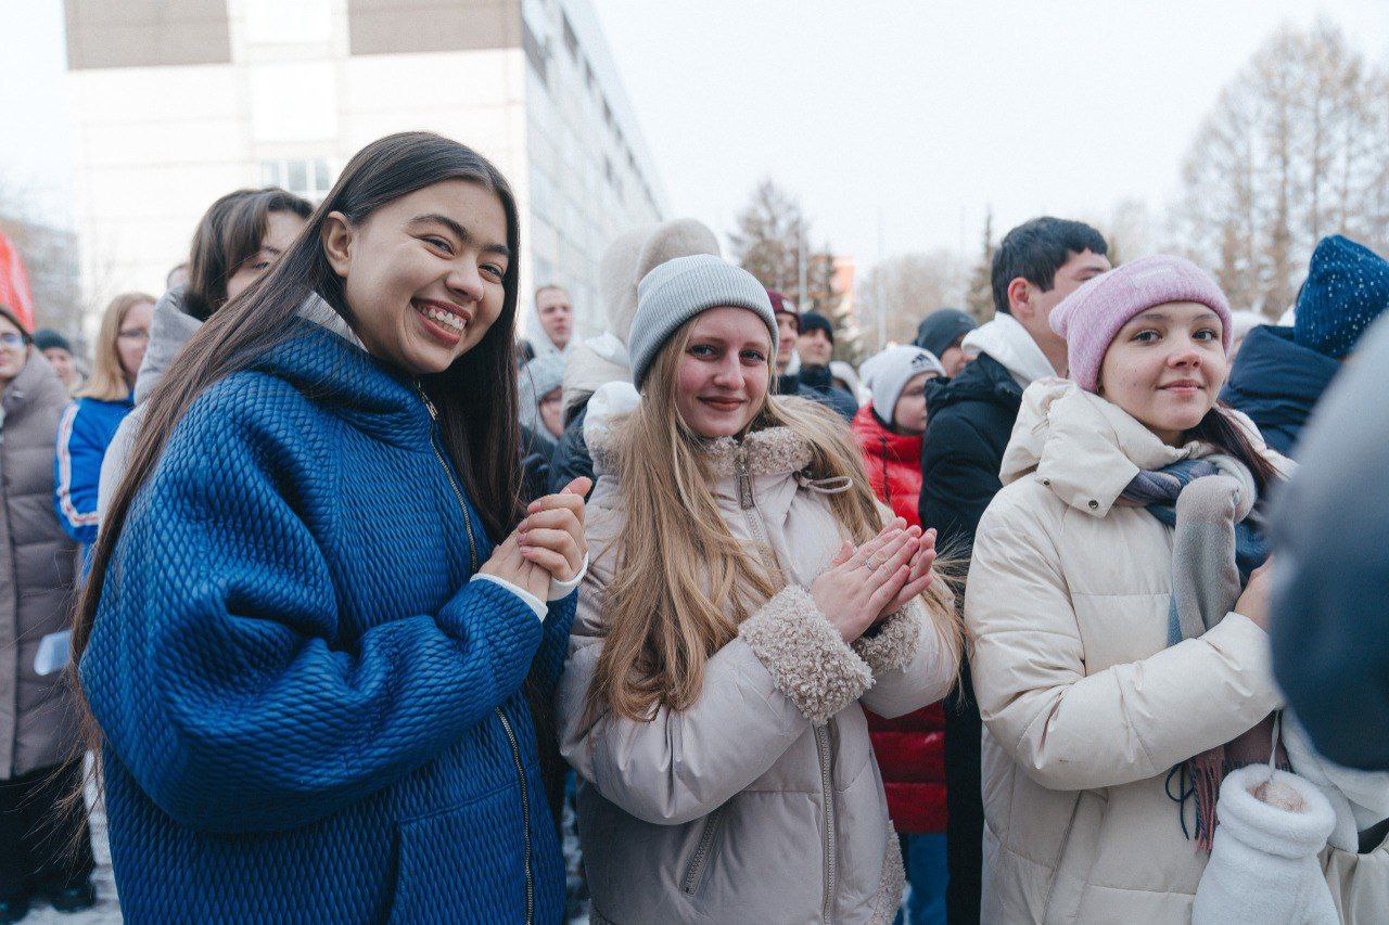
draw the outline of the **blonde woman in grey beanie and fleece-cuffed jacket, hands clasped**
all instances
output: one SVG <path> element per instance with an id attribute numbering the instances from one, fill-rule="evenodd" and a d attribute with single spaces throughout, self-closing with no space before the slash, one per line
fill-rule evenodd
<path id="1" fill-rule="evenodd" d="M 838 417 L 768 394 L 767 293 L 717 257 L 640 283 L 635 411 L 594 442 L 560 692 L 596 922 L 890 922 L 897 840 L 863 707 L 960 653 L 935 544 L 879 507 Z"/>

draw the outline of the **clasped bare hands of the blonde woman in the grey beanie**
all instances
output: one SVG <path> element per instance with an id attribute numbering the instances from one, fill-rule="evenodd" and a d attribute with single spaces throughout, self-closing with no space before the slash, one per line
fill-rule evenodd
<path id="1" fill-rule="evenodd" d="M 936 532 L 899 517 L 857 549 L 846 540 L 810 594 L 849 643 L 926 590 L 935 561 Z"/>

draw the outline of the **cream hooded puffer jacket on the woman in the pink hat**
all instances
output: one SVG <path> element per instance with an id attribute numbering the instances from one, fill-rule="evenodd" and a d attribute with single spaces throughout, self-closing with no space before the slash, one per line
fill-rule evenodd
<path id="1" fill-rule="evenodd" d="M 985 722 L 986 922 L 1190 919 L 1207 856 L 1182 833 L 1168 771 L 1281 697 L 1268 638 L 1247 617 L 1168 647 L 1172 529 L 1115 500 L 1139 469 L 1213 454 L 1165 446 L 1070 382 L 1022 396 L 965 590 Z"/>

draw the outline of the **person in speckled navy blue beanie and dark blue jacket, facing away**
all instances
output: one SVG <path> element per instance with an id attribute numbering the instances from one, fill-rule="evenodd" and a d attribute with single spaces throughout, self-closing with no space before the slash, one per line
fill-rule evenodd
<path id="1" fill-rule="evenodd" d="M 1221 400 L 1253 418 L 1271 447 L 1290 453 L 1340 361 L 1385 308 L 1389 261 L 1340 235 L 1321 239 L 1296 321 L 1249 332 Z"/>

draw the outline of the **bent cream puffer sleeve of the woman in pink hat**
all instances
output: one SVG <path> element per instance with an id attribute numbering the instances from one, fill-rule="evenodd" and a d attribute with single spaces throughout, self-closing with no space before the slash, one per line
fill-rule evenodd
<path id="1" fill-rule="evenodd" d="M 979 522 L 965 592 L 979 712 L 1038 783 L 1083 790 L 1150 778 L 1278 708 L 1268 636 L 1233 612 L 1200 638 L 1088 674 L 1042 519 L 1000 494 Z"/>

